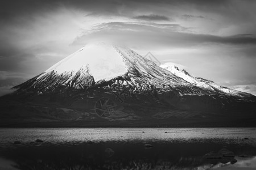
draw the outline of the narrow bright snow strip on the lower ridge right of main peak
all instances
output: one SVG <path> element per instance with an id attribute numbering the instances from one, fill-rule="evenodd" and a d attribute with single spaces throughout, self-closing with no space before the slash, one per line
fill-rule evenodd
<path id="1" fill-rule="evenodd" d="M 172 65 L 172 66 L 161 65 L 161 67 L 170 71 L 172 74 L 175 74 L 176 76 L 179 76 L 180 78 L 183 78 L 187 82 L 189 82 L 197 87 L 203 87 L 203 88 L 207 88 L 212 91 L 224 92 L 225 94 L 228 94 L 228 95 L 234 95 L 234 96 L 240 96 L 240 97 L 252 96 L 251 94 L 247 94 L 245 92 L 240 92 L 240 91 L 228 88 L 228 87 L 220 86 L 220 85 L 214 83 L 212 80 L 207 80 L 207 79 L 192 76 L 186 70 L 184 70 L 184 69 L 180 70 L 179 67 L 177 67 L 175 65 Z"/>

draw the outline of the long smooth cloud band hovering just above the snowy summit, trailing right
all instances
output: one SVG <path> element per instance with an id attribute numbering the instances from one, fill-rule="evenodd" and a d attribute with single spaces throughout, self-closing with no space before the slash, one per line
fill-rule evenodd
<path id="1" fill-rule="evenodd" d="M 206 43 L 247 45 L 256 44 L 254 36 L 215 36 L 189 33 L 189 28 L 179 24 L 150 24 L 109 22 L 96 25 L 89 32 L 77 37 L 73 44 L 86 44 L 94 40 L 113 40 L 127 44 L 152 46 L 191 47 Z"/>

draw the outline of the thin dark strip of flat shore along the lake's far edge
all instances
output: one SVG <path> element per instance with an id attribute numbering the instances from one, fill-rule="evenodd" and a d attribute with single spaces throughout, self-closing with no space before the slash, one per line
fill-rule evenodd
<path id="1" fill-rule="evenodd" d="M 50 122 L 5 122 L 0 128 L 256 128 L 256 120 L 80 120 Z"/>

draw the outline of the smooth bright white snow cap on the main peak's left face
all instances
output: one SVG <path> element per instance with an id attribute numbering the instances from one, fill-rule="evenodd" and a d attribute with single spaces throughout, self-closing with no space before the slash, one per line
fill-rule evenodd
<path id="1" fill-rule="evenodd" d="M 57 62 L 37 79 L 51 73 L 51 71 L 60 75 L 76 73 L 81 69 L 88 71 L 95 81 L 108 80 L 127 72 L 127 66 L 117 50 L 112 45 L 102 42 L 84 46 L 77 52 Z"/>

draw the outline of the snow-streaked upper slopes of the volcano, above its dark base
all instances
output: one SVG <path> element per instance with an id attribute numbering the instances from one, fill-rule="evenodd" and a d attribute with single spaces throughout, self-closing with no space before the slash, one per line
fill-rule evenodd
<path id="1" fill-rule="evenodd" d="M 88 44 L 57 62 L 44 73 L 15 88 L 31 88 L 42 93 L 60 88 L 87 89 L 105 82 L 108 86 L 121 84 L 133 87 L 130 91 L 160 91 L 177 89 L 184 95 L 228 95 L 250 97 L 250 94 L 218 86 L 195 78 L 185 70 L 172 66 L 162 68 L 125 46 L 98 42 Z M 203 88 L 202 88 L 203 87 Z"/>

